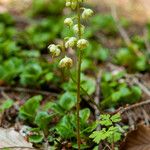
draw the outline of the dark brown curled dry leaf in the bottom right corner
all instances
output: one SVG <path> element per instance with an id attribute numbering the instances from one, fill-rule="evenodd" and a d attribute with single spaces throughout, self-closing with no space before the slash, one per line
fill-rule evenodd
<path id="1" fill-rule="evenodd" d="M 150 150 L 150 128 L 139 125 L 127 134 L 120 150 Z"/>

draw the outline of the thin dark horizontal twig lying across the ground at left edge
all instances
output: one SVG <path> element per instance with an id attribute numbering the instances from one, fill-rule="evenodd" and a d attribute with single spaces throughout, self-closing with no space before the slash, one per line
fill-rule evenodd
<path id="1" fill-rule="evenodd" d="M 42 95 L 57 96 L 57 93 L 34 90 L 34 89 L 26 89 L 26 88 L 21 88 L 21 87 L 12 88 L 12 87 L 0 86 L 0 91 L 16 91 L 16 92 L 24 92 L 24 93 L 35 93 L 35 94 L 42 94 Z"/>

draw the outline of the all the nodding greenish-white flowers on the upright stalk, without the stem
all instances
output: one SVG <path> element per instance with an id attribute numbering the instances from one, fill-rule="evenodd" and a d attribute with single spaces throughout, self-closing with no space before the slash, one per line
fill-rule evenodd
<path id="1" fill-rule="evenodd" d="M 66 0 L 66 7 L 69 7 L 71 9 L 77 9 L 78 3 L 82 3 L 84 0 Z M 82 11 L 81 17 L 83 20 L 88 19 L 93 15 L 93 11 L 89 8 L 79 8 L 80 11 Z M 65 38 L 64 45 L 54 45 L 51 44 L 48 46 L 48 49 L 50 50 L 50 53 L 52 54 L 53 57 L 57 57 L 61 54 L 62 49 L 68 49 L 68 48 L 77 48 L 78 50 L 83 50 L 87 48 L 88 46 L 88 41 L 83 38 L 79 38 L 79 34 L 82 35 L 84 34 L 85 26 L 82 24 L 78 24 L 77 17 L 70 17 L 66 18 L 64 20 L 64 24 L 72 28 L 75 37 L 69 37 Z M 77 36 L 77 37 L 76 37 Z M 68 56 L 65 56 L 62 58 L 59 62 L 59 67 L 60 68 L 71 68 L 73 65 L 73 61 L 71 58 Z"/>

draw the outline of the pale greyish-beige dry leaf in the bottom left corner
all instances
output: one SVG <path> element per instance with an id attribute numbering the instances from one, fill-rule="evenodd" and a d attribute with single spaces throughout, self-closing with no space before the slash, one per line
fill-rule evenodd
<path id="1" fill-rule="evenodd" d="M 27 142 L 21 134 L 14 130 L 14 128 L 0 128 L 0 149 L 5 147 L 15 147 L 15 149 L 20 148 L 23 150 L 29 150 L 32 149 L 32 144 Z"/>

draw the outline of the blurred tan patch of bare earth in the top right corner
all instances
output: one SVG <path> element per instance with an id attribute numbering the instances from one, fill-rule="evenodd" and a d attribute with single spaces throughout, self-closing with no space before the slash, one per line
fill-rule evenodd
<path id="1" fill-rule="evenodd" d="M 150 0 L 90 0 L 101 9 L 103 6 L 116 6 L 119 14 L 136 22 L 146 22 L 150 19 Z"/>

